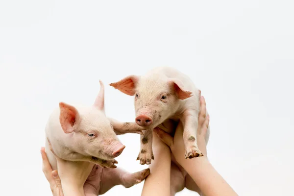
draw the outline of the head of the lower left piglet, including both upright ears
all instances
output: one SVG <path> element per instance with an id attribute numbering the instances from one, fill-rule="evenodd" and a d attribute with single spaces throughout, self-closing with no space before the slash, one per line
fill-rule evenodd
<path id="1" fill-rule="evenodd" d="M 118 140 L 110 121 L 104 114 L 104 88 L 101 88 L 93 107 L 77 110 L 72 105 L 59 103 L 60 124 L 66 134 L 71 134 L 70 147 L 79 154 L 110 160 L 119 156 L 124 145 Z"/>

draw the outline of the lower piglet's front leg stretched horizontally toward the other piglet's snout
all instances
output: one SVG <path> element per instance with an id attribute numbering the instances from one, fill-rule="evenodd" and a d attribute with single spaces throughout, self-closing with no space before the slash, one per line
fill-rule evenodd
<path id="1" fill-rule="evenodd" d="M 113 130 L 117 135 L 122 135 L 125 133 L 138 133 L 140 135 L 143 135 L 142 130 L 144 129 L 142 126 L 139 126 L 135 122 L 126 122 L 122 123 L 115 119 L 108 118 L 113 126 Z"/>

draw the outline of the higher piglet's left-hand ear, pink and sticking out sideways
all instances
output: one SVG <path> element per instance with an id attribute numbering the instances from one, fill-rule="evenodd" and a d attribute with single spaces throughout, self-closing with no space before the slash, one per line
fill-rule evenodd
<path id="1" fill-rule="evenodd" d="M 109 84 L 110 86 L 113 86 L 115 89 L 120 90 L 126 95 L 133 96 L 135 95 L 135 88 L 137 85 L 137 82 L 139 81 L 139 76 L 137 75 L 129 75 L 122 80 Z"/>

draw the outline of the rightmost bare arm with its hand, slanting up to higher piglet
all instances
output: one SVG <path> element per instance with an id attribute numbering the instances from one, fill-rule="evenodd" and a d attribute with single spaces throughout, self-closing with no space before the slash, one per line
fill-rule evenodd
<path id="1" fill-rule="evenodd" d="M 154 131 L 171 148 L 176 161 L 189 173 L 205 196 L 238 196 L 207 159 L 205 136 L 209 124 L 209 115 L 206 116 L 206 103 L 203 97 L 200 98 L 200 108 L 197 144 L 203 156 L 193 159 L 183 157 L 185 145 L 182 123 L 179 123 L 173 138 L 163 130 L 154 129 Z"/>

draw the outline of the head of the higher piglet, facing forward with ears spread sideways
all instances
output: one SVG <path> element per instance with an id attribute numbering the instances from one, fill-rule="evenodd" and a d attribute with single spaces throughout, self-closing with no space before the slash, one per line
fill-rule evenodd
<path id="1" fill-rule="evenodd" d="M 164 122 L 176 112 L 181 99 L 193 96 L 180 80 L 163 78 L 160 74 L 129 75 L 110 86 L 135 96 L 136 123 L 144 127 Z"/>

